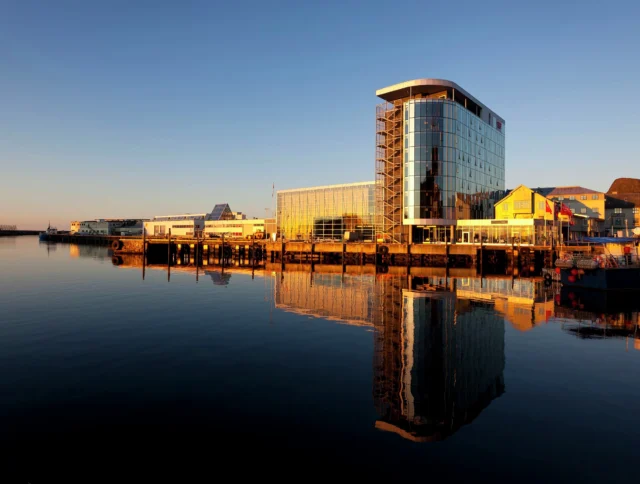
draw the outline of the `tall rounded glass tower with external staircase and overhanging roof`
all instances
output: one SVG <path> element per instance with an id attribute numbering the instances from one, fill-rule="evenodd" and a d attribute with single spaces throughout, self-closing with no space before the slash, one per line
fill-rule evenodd
<path id="1" fill-rule="evenodd" d="M 394 242 L 451 240 L 456 220 L 493 218 L 505 190 L 505 121 L 457 84 L 376 92 L 377 222 Z"/>

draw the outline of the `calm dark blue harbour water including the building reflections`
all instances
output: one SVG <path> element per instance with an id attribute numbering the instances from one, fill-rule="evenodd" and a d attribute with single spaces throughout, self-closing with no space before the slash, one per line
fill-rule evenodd
<path id="1" fill-rule="evenodd" d="M 634 304 L 0 238 L 3 472 L 634 481 Z"/>

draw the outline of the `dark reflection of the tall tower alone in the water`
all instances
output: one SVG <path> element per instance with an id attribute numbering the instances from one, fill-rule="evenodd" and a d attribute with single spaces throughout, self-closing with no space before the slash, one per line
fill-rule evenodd
<path id="1" fill-rule="evenodd" d="M 402 319 L 376 332 L 376 428 L 442 440 L 504 392 L 504 318 L 452 292 L 402 296 Z"/>

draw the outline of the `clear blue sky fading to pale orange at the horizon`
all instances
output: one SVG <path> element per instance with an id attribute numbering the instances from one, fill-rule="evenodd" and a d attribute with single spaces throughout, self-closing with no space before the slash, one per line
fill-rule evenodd
<path id="1" fill-rule="evenodd" d="M 640 178 L 640 2 L 0 0 L 0 223 L 264 216 L 374 179 L 376 89 L 506 119 L 507 187 Z"/>

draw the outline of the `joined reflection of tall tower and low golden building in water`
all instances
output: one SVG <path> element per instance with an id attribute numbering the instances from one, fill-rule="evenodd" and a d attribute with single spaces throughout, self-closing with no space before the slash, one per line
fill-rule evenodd
<path id="1" fill-rule="evenodd" d="M 417 442 L 454 434 L 504 392 L 508 311 L 496 300 L 505 294 L 513 306 L 535 297 L 535 287 L 285 272 L 274 288 L 284 311 L 375 328 L 376 428 Z"/>

